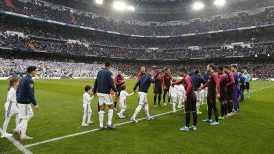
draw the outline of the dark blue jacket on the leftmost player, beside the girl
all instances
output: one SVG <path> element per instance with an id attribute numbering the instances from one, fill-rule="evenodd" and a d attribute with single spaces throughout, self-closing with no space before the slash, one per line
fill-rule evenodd
<path id="1" fill-rule="evenodd" d="M 23 77 L 20 80 L 19 86 L 16 90 L 16 100 L 19 104 L 34 104 L 37 105 L 34 97 L 34 80 L 30 75 Z"/>

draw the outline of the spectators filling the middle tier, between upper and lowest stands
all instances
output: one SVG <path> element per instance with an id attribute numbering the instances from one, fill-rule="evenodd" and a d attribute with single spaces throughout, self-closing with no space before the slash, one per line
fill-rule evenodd
<path id="1" fill-rule="evenodd" d="M 92 44 L 69 43 L 58 40 L 40 40 L 23 38 L 16 35 L 0 34 L 0 47 L 47 51 L 73 55 L 97 55 L 103 57 L 120 57 L 126 59 L 188 59 L 210 57 L 234 57 L 255 54 L 271 54 L 274 52 L 274 43 L 256 44 L 253 47 L 234 45 L 234 47 L 207 47 L 198 49 L 123 49 L 119 47 L 104 47 Z"/>

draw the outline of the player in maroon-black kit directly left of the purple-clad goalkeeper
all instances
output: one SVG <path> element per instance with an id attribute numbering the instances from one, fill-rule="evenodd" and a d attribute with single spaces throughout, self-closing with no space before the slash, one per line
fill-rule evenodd
<path id="1" fill-rule="evenodd" d="M 233 108 L 233 103 L 232 103 L 232 99 L 233 99 L 233 95 L 234 95 L 234 75 L 233 73 L 230 72 L 230 67 L 229 66 L 225 66 L 225 74 L 227 77 L 227 116 L 232 116 L 232 108 Z"/>

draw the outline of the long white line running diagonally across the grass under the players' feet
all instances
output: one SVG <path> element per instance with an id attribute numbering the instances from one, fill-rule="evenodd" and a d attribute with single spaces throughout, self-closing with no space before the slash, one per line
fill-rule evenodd
<path id="1" fill-rule="evenodd" d="M 263 89 L 271 88 L 271 87 L 274 87 L 274 86 L 268 86 L 268 87 L 260 88 L 260 89 L 257 89 L 257 90 L 251 90 L 251 92 L 256 92 L 256 91 L 258 91 L 258 90 L 263 90 Z M 246 94 L 246 93 L 247 93 L 247 92 L 245 92 L 245 94 Z M 180 110 L 182 110 L 182 109 L 180 109 Z M 177 110 L 177 111 L 179 111 L 179 110 Z M 156 114 L 156 115 L 154 115 L 154 116 L 152 116 L 152 117 L 162 116 L 162 115 L 170 114 L 170 113 L 172 113 L 172 112 L 164 112 L 164 113 L 162 113 L 162 114 Z M 147 118 L 139 118 L 139 119 L 137 119 L 137 120 L 140 121 L 140 120 L 145 120 L 145 119 L 147 119 Z M 132 123 L 132 121 L 130 120 L 130 121 L 127 121 L 127 122 L 124 122 L 124 123 L 118 123 L 118 124 L 115 124 L 114 126 L 125 125 L 125 124 L 127 124 L 127 123 Z M 64 139 L 64 138 L 71 138 L 71 137 L 74 137 L 74 136 L 80 136 L 80 135 L 82 135 L 82 134 L 90 133 L 90 132 L 92 132 L 92 131 L 99 131 L 99 128 L 97 128 L 97 129 L 91 129 L 91 130 L 89 130 L 89 131 L 82 131 L 82 132 L 79 132 L 79 133 L 72 133 L 72 134 L 67 135 L 67 136 L 61 136 L 61 137 L 58 137 L 58 138 L 52 138 L 52 139 L 49 139 L 49 140 L 44 140 L 44 141 L 36 142 L 36 143 L 33 143 L 33 144 L 27 144 L 27 145 L 25 145 L 24 147 L 25 147 L 25 148 L 28 148 L 28 147 L 37 146 L 37 145 L 40 145 L 40 144 L 45 144 L 45 143 L 47 143 L 47 142 L 53 142 L 53 141 L 56 141 L 56 140 L 62 140 L 62 139 Z"/>

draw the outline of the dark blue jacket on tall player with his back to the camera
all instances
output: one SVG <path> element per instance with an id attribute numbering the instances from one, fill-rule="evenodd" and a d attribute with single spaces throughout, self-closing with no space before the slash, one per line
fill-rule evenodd
<path id="1" fill-rule="evenodd" d="M 94 84 L 94 92 L 110 94 L 110 90 L 117 92 L 112 79 L 112 72 L 108 68 L 101 68 Z"/>

